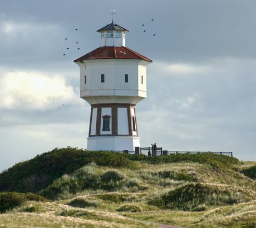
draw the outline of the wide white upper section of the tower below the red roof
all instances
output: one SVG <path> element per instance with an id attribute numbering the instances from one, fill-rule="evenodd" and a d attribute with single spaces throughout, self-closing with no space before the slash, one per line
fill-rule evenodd
<path id="1" fill-rule="evenodd" d="M 80 97 L 90 104 L 110 102 L 137 104 L 147 97 L 146 66 L 149 63 L 137 59 L 100 59 L 78 62 Z M 103 83 L 101 82 L 102 74 L 105 77 Z M 128 75 L 128 82 L 125 82 L 125 74 Z M 106 96 L 112 96 L 112 98 L 106 99 Z"/>

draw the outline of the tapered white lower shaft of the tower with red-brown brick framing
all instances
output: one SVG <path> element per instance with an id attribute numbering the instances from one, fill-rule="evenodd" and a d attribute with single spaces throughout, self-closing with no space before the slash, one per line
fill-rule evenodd
<path id="1" fill-rule="evenodd" d="M 135 104 L 91 105 L 87 150 L 134 150 L 138 135 Z"/>

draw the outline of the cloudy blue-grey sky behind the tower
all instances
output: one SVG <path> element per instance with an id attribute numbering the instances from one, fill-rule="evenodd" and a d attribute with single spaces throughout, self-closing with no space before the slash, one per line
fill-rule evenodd
<path id="1" fill-rule="evenodd" d="M 100 47 L 111 9 L 130 31 L 126 47 L 153 60 L 137 104 L 141 146 L 256 160 L 256 1 L 9 0 L 0 7 L 0 172 L 54 148 L 86 148 L 90 104 L 73 60 Z"/>

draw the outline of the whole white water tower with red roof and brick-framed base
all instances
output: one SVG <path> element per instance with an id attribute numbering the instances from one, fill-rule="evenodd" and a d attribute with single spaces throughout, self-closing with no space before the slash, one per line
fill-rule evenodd
<path id="1" fill-rule="evenodd" d="M 136 104 L 147 97 L 151 59 L 125 47 L 127 29 L 99 29 L 101 47 L 74 60 L 80 67 L 80 98 L 91 105 L 87 150 L 135 150 L 140 146 Z"/>

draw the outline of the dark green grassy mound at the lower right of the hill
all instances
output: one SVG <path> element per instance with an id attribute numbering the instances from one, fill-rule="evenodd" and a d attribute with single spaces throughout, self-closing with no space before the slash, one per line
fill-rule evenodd
<path id="1" fill-rule="evenodd" d="M 149 204 L 174 210 L 200 211 L 206 206 L 232 205 L 248 201 L 245 192 L 234 192 L 220 186 L 188 184 L 149 201 Z M 202 206 L 204 205 L 204 206 Z"/>

